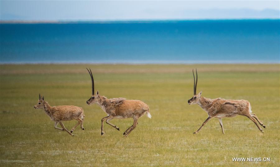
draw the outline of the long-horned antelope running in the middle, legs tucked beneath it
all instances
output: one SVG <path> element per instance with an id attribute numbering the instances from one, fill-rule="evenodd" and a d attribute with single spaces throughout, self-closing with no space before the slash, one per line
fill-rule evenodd
<path id="1" fill-rule="evenodd" d="M 87 69 L 87 68 L 86 68 Z M 149 111 L 149 107 L 147 104 L 140 100 L 126 100 L 125 98 L 113 98 L 107 99 L 105 96 L 101 96 L 97 90 L 96 94 L 94 94 L 94 80 L 91 73 L 91 69 L 87 71 L 91 76 L 91 98 L 86 101 L 87 105 L 91 105 L 96 103 L 102 108 L 104 112 L 108 114 L 101 119 L 101 135 L 104 134 L 103 122 L 106 121 L 107 124 L 113 126 L 115 129 L 119 130 L 119 127 L 113 125 L 109 121 L 118 118 L 133 118 L 133 125 L 130 126 L 125 132 L 124 137 L 127 137 L 128 134 L 131 133 L 132 130 L 135 129 L 138 124 L 138 119 L 147 113 L 147 116 L 151 118 L 151 114 Z"/>

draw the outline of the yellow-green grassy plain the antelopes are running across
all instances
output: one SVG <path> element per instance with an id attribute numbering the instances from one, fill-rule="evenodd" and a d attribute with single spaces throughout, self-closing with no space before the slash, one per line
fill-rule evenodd
<path id="1" fill-rule="evenodd" d="M 86 105 L 95 89 L 107 98 L 139 99 L 152 119 L 141 117 L 127 137 L 132 119 L 105 124 L 96 104 Z M 193 95 L 192 68 L 198 90 L 207 98 L 246 99 L 267 126 L 262 134 L 247 117 L 223 119 L 222 134 L 212 119 L 194 135 L 207 113 L 188 105 Z M 0 166 L 279 166 L 279 64 L 263 65 L 1 65 Z M 50 105 L 76 105 L 85 111 L 85 130 L 76 136 L 54 129 L 38 94 Z M 76 121 L 64 122 L 71 129 Z M 270 162 L 233 162 L 232 157 L 270 157 Z"/>

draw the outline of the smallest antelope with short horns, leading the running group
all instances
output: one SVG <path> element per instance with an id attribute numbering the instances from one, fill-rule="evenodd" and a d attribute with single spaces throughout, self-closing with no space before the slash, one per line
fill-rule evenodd
<path id="1" fill-rule="evenodd" d="M 34 106 L 35 109 L 43 109 L 46 114 L 54 121 L 54 128 L 58 130 L 65 130 L 68 134 L 72 135 L 75 128 L 81 124 L 81 129 L 85 130 L 83 127 L 83 122 L 85 119 L 84 110 L 77 106 L 50 106 L 48 102 L 44 100 L 44 96 L 39 94 L 38 104 Z M 63 125 L 62 121 L 77 120 L 78 123 L 71 129 L 67 130 Z M 57 124 L 60 124 L 62 128 L 58 128 Z"/>

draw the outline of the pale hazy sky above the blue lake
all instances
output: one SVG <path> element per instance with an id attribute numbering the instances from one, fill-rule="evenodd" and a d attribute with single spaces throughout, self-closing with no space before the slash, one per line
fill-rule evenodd
<path id="1" fill-rule="evenodd" d="M 3 1 L 1 20 L 279 18 L 279 1 Z"/>

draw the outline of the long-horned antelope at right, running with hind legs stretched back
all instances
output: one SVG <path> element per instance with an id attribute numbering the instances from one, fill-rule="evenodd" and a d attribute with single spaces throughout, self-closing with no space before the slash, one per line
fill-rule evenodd
<path id="1" fill-rule="evenodd" d="M 196 71 L 196 69 L 195 69 Z M 193 70 L 194 75 L 194 70 Z M 258 125 L 257 121 L 260 125 L 265 128 L 265 125 L 259 120 L 256 114 L 253 114 L 251 111 L 251 105 L 247 100 L 226 100 L 226 99 L 207 99 L 202 97 L 202 92 L 196 94 L 196 86 L 197 86 L 197 71 L 196 71 L 196 81 L 194 77 L 194 96 L 188 100 L 189 104 L 198 104 L 204 111 L 208 113 L 208 118 L 203 122 L 200 128 L 194 132 L 197 134 L 199 130 L 212 118 L 218 118 L 220 125 L 222 127 L 222 132 L 225 134 L 222 118 L 225 117 L 234 117 L 237 115 L 247 116 L 250 120 L 252 120 L 261 132 L 264 132 L 262 128 Z M 255 120 L 255 119 L 257 120 Z"/>

